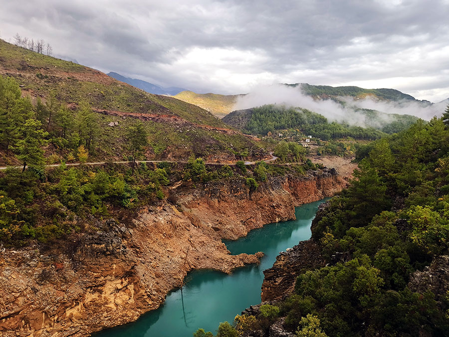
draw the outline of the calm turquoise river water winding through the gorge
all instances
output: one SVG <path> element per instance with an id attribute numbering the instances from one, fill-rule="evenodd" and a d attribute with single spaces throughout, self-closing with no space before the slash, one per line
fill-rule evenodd
<path id="1" fill-rule="evenodd" d="M 235 315 L 260 303 L 262 271 L 273 265 L 280 251 L 310 238 L 310 225 L 323 201 L 296 207 L 296 220 L 269 224 L 244 238 L 225 241 L 234 255 L 264 252 L 260 265 L 237 269 L 231 275 L 210 270 L 189 273 L 182 294 L 181 290 L 173 291 L 159 309 L 138 321 L 93 336 L 192 337 L 199 328 L 215 333 L 220 322 L 232 323 Z"/>

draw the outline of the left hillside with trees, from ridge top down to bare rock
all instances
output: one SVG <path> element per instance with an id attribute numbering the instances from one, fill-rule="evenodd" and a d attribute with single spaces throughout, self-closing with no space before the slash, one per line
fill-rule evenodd
<path id="1" fill-rule="evenodd" d="M 103 217 L 166 200 L 170 182 L 233 174 L 205 160 L 265 155 L 203 109 L 0 40 L 0 166 L 12 166 L 0 170 L 0 244 L 95 231 Z M 135 164 L 145 159 L 173 163 Z M 83 165 L 95 161 L 106 164 Z"/>

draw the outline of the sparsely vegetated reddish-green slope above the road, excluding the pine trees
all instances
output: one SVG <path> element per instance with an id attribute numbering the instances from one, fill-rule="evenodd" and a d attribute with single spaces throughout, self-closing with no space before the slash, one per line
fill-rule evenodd
<path id="1" fill-rule="evenodd" d="M 70 108 L 72 119 L 80 102 L 96 114 L 98 136 L 89 160 L 127 156 L 125 133 L 138 120 L 150 134 L 146 157 L 187 159 L 191 154 L 206 160 L 235 160 L 239 153 L 258 153 L 253 140 L 228 127 L 210 112 L 176 98 L 154 95 L 80 64 L 38 54 L 0 40 L 0 75 L 13 77 L 23 96 Z M 45 121 L 46 122 L 46 121 Z M 114 126 L 108 126 L 113 122 Z M 51 126 L 51 123 L 49 123 Z M 48 131 L 54 131 L 50 130 Z M 58 151 L 50 142 L 48 154 L 66 160 L 69 151 Z M 53 149 L 53 150 L 52 150 Z M 2 154 L 2 163 L 13 162 Z"/>

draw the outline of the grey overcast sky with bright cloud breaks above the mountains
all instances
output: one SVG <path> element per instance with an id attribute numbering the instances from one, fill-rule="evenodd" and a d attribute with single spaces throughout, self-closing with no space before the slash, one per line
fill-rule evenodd
<path id="1" fill-rule="evenodd" d="M 0 37 L 196 92 L 297 83 L 449 97 L 449 0 L 0 0 Z"/>

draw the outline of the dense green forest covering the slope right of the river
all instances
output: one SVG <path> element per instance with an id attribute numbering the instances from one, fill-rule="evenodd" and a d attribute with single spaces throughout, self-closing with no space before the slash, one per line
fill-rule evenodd
<path id="1" fill-rule="evenodd" d="M 263 313 L 237 316 L 220 336 L 251 336 L 278 317 L 297 336 L 448 336 L 448 289 L 417 292 L 409 284 L 449 253 L 445 122 L 449 107 L 442 119 L 361 146 L 356 179 L 312 227 L 327 266 L 298 275 L 294 293 L 269 306 L 268 323 Z"/>

